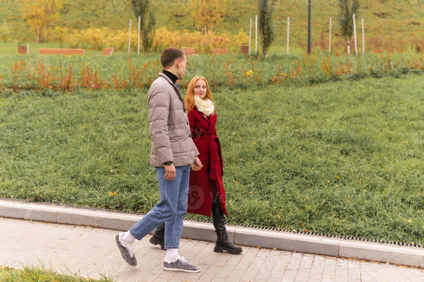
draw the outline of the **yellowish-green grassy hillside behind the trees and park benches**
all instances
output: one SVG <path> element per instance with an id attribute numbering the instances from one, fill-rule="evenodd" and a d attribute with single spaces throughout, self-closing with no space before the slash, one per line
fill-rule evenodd
<path id="1" fill-rule="evenodd" d="M 56 25 L 87 28 L 107 26 L 114 29 L 128 28 L 128 20 L 136 21 L 132 11 L 131 1 L 123 0 L 117 10 L 109 8 L 112 0 L 68 1 L 62 11 L 61 19 Z M 415 0 L 376 0 L 362 1 L 358 18 L 358 33 L 360 31 L 360 18 L 365 20 L 366 46 L 391 46 L 397 47 L 402 39 L 411 47 L 421 38 L 424 26 L 424 7 L 420 7 Z M 156 6 L 157 26 L 167 26 L 168 29 L 196 30 L 197 25 L 190 12 L 180 3 L 192 3 L 193 8 L 198 1 L 153 1 Z M 338 11 L 337 0 L 312 1 L 312 42 L 321 44 L 323 48 L 328 44 L 329 17 L 333 18 L 334 44 L 341 40 L 338 35 L 336 21 Z M 21 18 L 21 5 L 17 2 L 7 1 L 0 5 L 0 19 L 5 19 L 8 26 L 16 32 L 14 41 L 32 41 L 34 32 Z M 243 28 L 249 29 L 249 19 L 257 14 L 256 0 L 230 0 L 228 13 L 223 22 L 214 27 L 215 32 L 223 30 L 238 32 Z M 279 1 L 279 7 L 274 13 L 277 27 L 277 37 L 271 51 L 273 53 L 285 52 L 287 16 L 290 16 L 290 34 L 293 47 L 304 44 L 307 37 L 307 0 Z M 172 23 L 172 24 L 171 24 Z M 134 25 L 133 25 L 134 26 Z M 253 28 L 254 30 L 254 28 Z M 259 42 L 258 42 L 259 43 Z M 340 46 L 341 45 L 340 41 Z M 359 46 L 361 44 L 358 43 Z M 343 43 L 344 47 L 344 43 Z"/>

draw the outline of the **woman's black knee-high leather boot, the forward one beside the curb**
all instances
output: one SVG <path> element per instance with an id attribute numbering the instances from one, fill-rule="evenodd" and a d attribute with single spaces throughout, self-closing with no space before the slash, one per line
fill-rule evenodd
<path id="1" fill-rule="evenodd" d="M 212 221 L 215 227 L 215 233 L 217 234 L 217 240 L 214 248 L 214 252 L 223 251 L 229 252 L 230 254 L 240 254 L 243 249 L 240 246 L 236 246 L 232 241 L 229 240 L 227 230 L 225 228 L 224 213 L 219 206 L 218 201 L 212 202 Z"/>

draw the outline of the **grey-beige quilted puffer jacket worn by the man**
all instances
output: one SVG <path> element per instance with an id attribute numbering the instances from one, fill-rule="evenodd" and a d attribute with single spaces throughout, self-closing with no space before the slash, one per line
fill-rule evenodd
<path id="1" fill-rule="evenodd" d="M 170 161 L 176 167 L 192 164 L 199 152 L 191 138 L 179 83 L 173 84 L 160 72 L 150 86 L 147 104 L 152 140 L 150 164 L 155 167 L 164 167 L 163 163 Z"/>

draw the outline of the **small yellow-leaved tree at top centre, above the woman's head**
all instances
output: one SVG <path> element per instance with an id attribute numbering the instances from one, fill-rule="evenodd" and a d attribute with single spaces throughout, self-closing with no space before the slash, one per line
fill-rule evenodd
<path id="1" fill-rule="evenodd" d="M 203 30 L 216 27 L 226 14 L 228 0 L 188 1 L 186 10 L 191 14 L 196 24 Z"/>

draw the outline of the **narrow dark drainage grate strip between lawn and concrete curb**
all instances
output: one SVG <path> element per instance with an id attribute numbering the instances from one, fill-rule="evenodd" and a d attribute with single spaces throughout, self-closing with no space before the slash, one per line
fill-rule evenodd
<path id="1" fill-rule="evenodd" d="M 109 212 L 115 212 L 120 214 L 136 214 L 136 215 L 145 215 L 145 213 L 131 213 L 128 211 L 122 211 L 122 210 L 112 210 L 110 208 L 98 208 L 98 207 L 87 207 L 85 205 L 71 205 L 71 204 L 62 204 L 62 203 L 52 203 L 49 201 L 44 202 L 36 202 L 30 199 L 13 199 L 13 198 L 3 198 L 0 197 L 0 200 L 6 200 L 11 202 L 18 202 L 18 203 L 31 203 L 31 204 L 37 204 L 37 205 L 55 205 L 55 206 L 61 206 L 64 208 L 82 208 L 86 210 L 93 210 L 93 211 L 109 211 Z M 212 223 L 211 220 L 195 220 L 190 219 L 187 217 L 183 218 L 184 220 L 189 220 L 193 222 L 206 222 L 206 223 Z M 227 224 L 227 222 L 226 222 Z M 415 248 L 421 248 L 424 249 L 424 246 L 418 245 L 418 244 L 409 244 L 409 243 L 403 243 L 403 242 L 393 242 L 393 241 L 380 241 L 376 239 L 365 239 L 360 237 L 351 237 L 351 236 L 344 236 L 344 235 L 335 235 L 335 234 L 325 234 L 325 233 L 316 233 L 316 232 L 305 232 L 305 231 L 293 231 L 293 230 L 286 230 L 281 229 L 280 227 L 266 227 L 266 226 L 260 226 L 260 225 L 248 225 L 248 224 L 234 224 L 230 226 L 240 226 L 240 227 L 250 227 L 250 228 L 256 228 L 256 229 L 262 229 L 262 230 L 273 230 L 273 231 L 282 231 L 282 232 L 289 232 L 289 233 L 296 233 L 296 234 L 304 234 L 304 235 L 315 235 L 315 236 L 323 236 L 323 237 L 329 237 L 329 238 L 336 238 L 336 239 L 344 239 L 344 240 L 352 240 L 352 241 L 363 241 L 363 242 L 372 242 L 372 243 L 380 243 L 380 244 L 389 244 L 389 245 L 395 245 L 395 246 L 408 246 L 408 247 L 415 247 Z"/>

